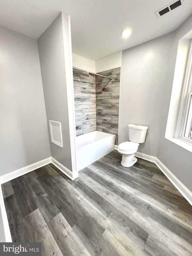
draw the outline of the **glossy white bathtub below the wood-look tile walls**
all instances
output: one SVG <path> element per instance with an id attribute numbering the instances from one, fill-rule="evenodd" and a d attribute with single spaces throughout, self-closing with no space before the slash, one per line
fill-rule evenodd
<path id="1" fill-rule="evenodd" d="M 81 170 L 99 158 L 107 155 L 115 147 L 115 135 L 92 131 L 76 137 L 77 164 Z"/>

